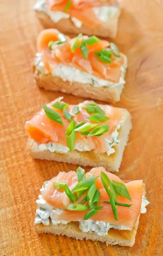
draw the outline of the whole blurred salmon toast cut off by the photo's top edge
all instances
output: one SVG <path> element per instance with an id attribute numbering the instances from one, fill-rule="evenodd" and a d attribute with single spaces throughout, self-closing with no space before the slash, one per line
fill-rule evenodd
<path id="1" fill-rule="evenodd" d="M 122 0 L 37 0 L 34 10 L 46 28 L 115 38 Z"/>

